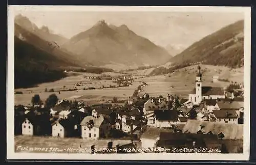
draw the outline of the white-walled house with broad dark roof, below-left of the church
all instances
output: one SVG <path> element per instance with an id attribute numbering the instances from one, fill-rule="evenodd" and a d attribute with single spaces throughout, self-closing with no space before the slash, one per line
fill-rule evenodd
<path id="1" fill-rule="evenodd" d="M 176 110 L 155 111 L 155 124 L 158 128 L 168 128 L 178 122 L 178 112 Z"/>

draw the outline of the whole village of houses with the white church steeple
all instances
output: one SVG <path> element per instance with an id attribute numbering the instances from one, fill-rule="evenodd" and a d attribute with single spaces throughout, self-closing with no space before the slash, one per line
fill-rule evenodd
<path id="1" fill-rule="evenodd" d="M 232 83 L 225 89 L 205 87 L 202 76 L 198 66 L 195 88 L 187 98 L 172 93 L 159 97 L 139 95 L 147 86 L 145 82 L 121 104 L 117 97 L 111 102 L 89 105 L 59 99 L 55 94 L 44 103 L 39 95 L 34 95 L 32 106 L 15 105 L 14 133 L 84 141 L 105 139 L 109 141 L 106 147 L 116 149 L 117 153 L 194 153 L 200 148 L 201 153 L 242 153 L 243 85 Z M 132 77 L 84 78 L 111 79 L 119 82 L 119 86 L 133 82 Z M 214 76 L 213 81 L 216 79 Z M 130 143 L 113 146 L 115 139 Z M 97 146 L 91 148 L 95 150 Z"/>

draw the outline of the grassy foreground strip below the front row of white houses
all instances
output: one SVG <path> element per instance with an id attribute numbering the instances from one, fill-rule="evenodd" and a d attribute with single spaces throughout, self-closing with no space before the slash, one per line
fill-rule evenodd
<path id="1" fill-rule="evenodd" d="M 116 145 L 131 143 L 131 140 L 86 140 L 81 138 L 63 138 L 52 136 L 27 136 L 17 135 L 14 137 L 15 152 L 56 152 L 56 153 L 79 153 L 79 151 L 68 151 L 68 148 L 91 149 L 95 145 L 95 150 L 100 150 L 108 147 L 108 142 L 113 142 L 113 148 Z M 32 151 L 27 151 L 25 148 L 33 148 Z M 36 150 L 37 148 L 37 150 Z M 38 148 L 48 148 L 48 151 L 39 151 Z M 51 151 L 50 148 L 57 148 L 57 151 Z M 88 153 L 88 151 L 85 151 Z M 90 152 L 89 152 L 90 153 Z"/>

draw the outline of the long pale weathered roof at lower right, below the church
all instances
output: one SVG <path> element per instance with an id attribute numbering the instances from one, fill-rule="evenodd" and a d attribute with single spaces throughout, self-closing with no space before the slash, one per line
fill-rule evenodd
<path id="1" fill-rule="evenodd" d="M 221 110 L 219 110 L 221 111 Z M 201 126 L 203 128 L 201 129 Z M 199 130 L 206 133 L 211 131 L 213 134 L 224 134 L 223 139 L 243 139 L 243 124 L 210 122 L 200 120 L 187 120 L 182 132 L 184 133 L 197 133 Z"/>

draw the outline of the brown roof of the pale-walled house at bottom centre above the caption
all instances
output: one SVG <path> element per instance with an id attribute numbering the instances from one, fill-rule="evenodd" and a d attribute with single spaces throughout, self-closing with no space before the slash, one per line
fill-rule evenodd
<path id="1" fill-rule="evenodd" d="M 141 135 L 141 139 L 156 140 L 157 138 L 159 138 L 160 132 L 174 132 L 174 130 L 165 128 L 146 127 L 145 131 Z"/>

